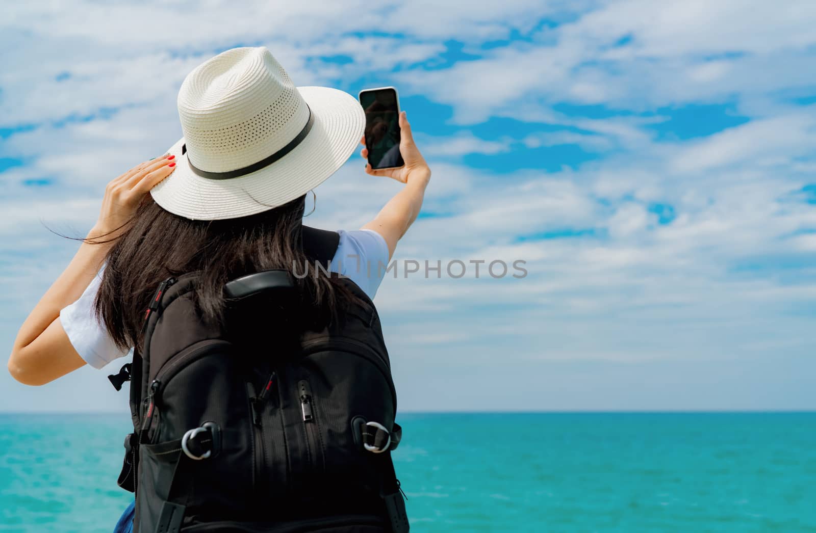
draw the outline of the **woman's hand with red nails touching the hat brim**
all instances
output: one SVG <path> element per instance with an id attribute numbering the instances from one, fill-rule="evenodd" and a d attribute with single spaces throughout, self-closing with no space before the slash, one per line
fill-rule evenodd
<path id="1" fill-rule="evenodd" d="M 122 235 L 144 196 L 175 170 L 174 159 L 175 156 L 162 156 L 144 161 L 108 183 L 100 218 L 89 238 L 98 236 L 113 240 Z"/>

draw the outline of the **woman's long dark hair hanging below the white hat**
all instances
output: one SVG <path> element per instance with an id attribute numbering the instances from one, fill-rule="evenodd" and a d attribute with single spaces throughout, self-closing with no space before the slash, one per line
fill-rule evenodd
<path id="1" fill-rule="evenodd" d="M 202 319 L 223 324 L 224 284 L 256 271 L 297 269 L 301 307 L 317 320 L 337 315 L 352 293 L 321 269 L 302 248 L 304 198 L 259 214 L 226 220 L 189 220 L 146 198 L 126 232 L 107 254 L 95 312 L 121 349 L 141 349 L 144 310 L 158 284 L 199 271 L 193 297 Z M 308 275 L 302 275 L 306 265 Z"/>

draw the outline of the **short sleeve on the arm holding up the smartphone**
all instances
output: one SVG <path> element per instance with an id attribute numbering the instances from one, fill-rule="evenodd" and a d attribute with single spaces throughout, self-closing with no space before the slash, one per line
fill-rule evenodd
<path id="1" fill-rule="evenodd" d="M 338 233 L 331 270 L 350 278 L 373 300 L 388 267 L 388 243 L 374 230 Z"/>

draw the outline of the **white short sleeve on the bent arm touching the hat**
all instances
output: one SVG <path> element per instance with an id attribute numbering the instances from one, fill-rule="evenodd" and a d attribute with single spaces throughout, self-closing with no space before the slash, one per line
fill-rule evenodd
<path id="1" fill-rule="evenodd" d="M 60 311 L 60 323 L 74 350 L 93 368 L 124 357 L 129 350 L 120 350 L 113 344 L 108 330 L 96 319 L 94 300 L 102 281 L 99 271 L 76 302 Z"/>

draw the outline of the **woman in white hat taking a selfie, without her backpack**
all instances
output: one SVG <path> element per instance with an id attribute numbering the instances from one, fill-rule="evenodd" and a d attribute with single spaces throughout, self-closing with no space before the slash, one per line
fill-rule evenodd
<path id="1" fill-rule="evenodd" d="M 365 144 L 356 99 L 296 88 L 265 47 L 226 51 L 194 69 L 181 87 L 179 114 L 184 138 L 108 184 L 95 226 L 24 321 L 8 361 L 17 381 L 43 385 L 138 350 L 144 310 L 167 275 L 201 271 L 202 319 L 219 322 L 226 281 L 300 270 L 310 258 L 302 244 L 306 194 Z M 431 175 L 405 112 L 399 124 L 405 166 L 366 164 L 366 173 L 404 187 L 360 230 L 338 232 L 330 264 L 372 298 Z M 320 269 L 297 277 L 318 314 L 333 315 L 353 298 Z M 126 513 L 118 531 L 129 526 Z"/>

